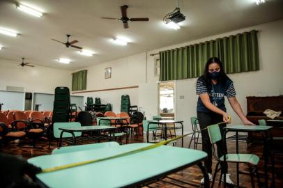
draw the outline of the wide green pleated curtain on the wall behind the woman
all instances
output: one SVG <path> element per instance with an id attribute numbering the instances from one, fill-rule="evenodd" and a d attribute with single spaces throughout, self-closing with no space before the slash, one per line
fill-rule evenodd
<path id="1" fill-rule="evenodd" d="M 227 74 L 259 70 L 257 31 L 160 52 L 160 81 L 199 77 L 213 56 L 220 58 Z"/>

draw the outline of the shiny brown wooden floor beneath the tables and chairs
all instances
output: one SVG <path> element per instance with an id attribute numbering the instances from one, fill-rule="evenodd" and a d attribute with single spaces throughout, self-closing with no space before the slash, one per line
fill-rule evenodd
<path id="1" fill-rule="evenodd" d="M 132 139 L 130 139 L 130 143 L 137 143 L 137 142 L 144 142 L 146 141 L 144 136 L 133 136 Z M 190 137 L 185 138 L 185 147 L 188 148 L 188 143 L 190 141 Z M 21 146 L 19 146 L 19 143 Z M 123 140 L 123 143 L 125 143 L 125 140 Z M 47 155 L 52 152 L 54 148 L 56 148 L 56 141 L 52 141 L 51 148 L 48 149 L 48 141 L 46 140 L 40 140 L 37 142 L 36 146 L 42 147 L 42 148 L 24 148 L 22 146 L 29 146 L 28 144 L 24 143 L 24 141 L 13 141 L 8 143 L 8 145 L 3 146 L 2 152 L 6 152 L 13 155 L 22 155 L 26 159 L 29 157 L 35 157 L 38 155 Z M 181 146 L 180 141 L 178 142 L 177 146 Z M 276 187 L 280 188 L 283 187 L 283 149 L 282 149 L 282 143 L 276 143 L 275 145 L 275 183 Z M 261 182 L 263 182 L 263 160 L 262 160 L 262 150 L 263 147 L 260 144 L 248 146 L 245 142 L 240 142 L 239 144 L 240 152 L 243 153 L 254 153 L 258 155 L 261 158 L 261 161 L 259 162 L 259 173 L 261 175 Z M 236 142 L 235 141 L 228 141 L 227 142 L 227 148 L 229 152 L 235 152 L 236 151 Z M 201 145 L 198 147 L 199 150 L 201 150 Z M 215 167 L 216 162 L 213 162 L 213 169 Z M 246 170 L 247 167 L 245 165 L 240 165 L 241 170 Z M 236 182 L 236 165 L 229 164 L 229 173 L 231 173 L 231 180 Z M 268 173 L 269 175 L 269 187 L 270 187 L 270 180 L 271 180 L 271 173 Z M 215 186 L 218 185 L 220 174 L 217 174 L 217 179 L 215 182 Z M 199 185 L 200 180 L 202 178 L 202 173 L 199 170 L 197 166 L 192 166 L 188 169 L 184 169 L 183 171 L 179 171 L 178 173 L 173 173 L 169 175 L 171 178 L 175 178 L 178 180 L 183 180 L 185 182 L 190 182 L 194 185 Z M 169 178 L 165 178 L 165 180 L 169 182 L 174 182 L 173 180 L 170 180 Z M 257 180 L 255 180 L 255 185 L 257 187 Z M 240 186 L 243 187 L 252 187 L 250 184 L 250 176 L 249 175 L 240 175 Z M 184 187 L 192 187 L 191 185 L 185 185 Z M 149 187 L 177 187 L 175 185 L 169 184 L 167 182 L 163 182 L 162 180 L 159 180 L 158 182 L 154 182 Z M 222 187 L 222 186 L 221 186 Z"/>

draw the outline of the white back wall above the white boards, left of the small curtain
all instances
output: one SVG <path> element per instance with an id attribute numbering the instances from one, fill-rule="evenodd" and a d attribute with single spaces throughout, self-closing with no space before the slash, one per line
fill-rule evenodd
<path id="1" fill-rule="evenodd" d="M 1 52 L 0 52 L 1 53 Z M 0 90 L 6 86 L 24 87 L 26 92 L 54 93 L 57 86 L 71 87 L 71 72 L 36 65 L 34 68 L 0 59 Z"/>

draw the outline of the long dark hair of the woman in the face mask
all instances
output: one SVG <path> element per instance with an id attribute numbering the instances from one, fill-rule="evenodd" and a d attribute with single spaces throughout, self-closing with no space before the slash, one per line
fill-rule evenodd
<path id="1" fill-rule="evenodd" d="M 226 81 L 227 81 L 227 79 L 229 79 L 229 77 L 227 77 L 227 75 L 224 72 L 223 64 L 220 61 L 220 59 L 217 58 L 217 57 L 209 58 L 208 61 L 206 62 L 206 67 L 204 68 L 204 74 L 201 75 L 201 77 L 199 77 L 199 79 L 201 81 L 203 81 L 204 85 L 208 88 L 208 91 L 211 91 L 211 87 L 212 87 L 211 86 L 211 77 L 208 73 L 208 67 L 209 67 L 209 65 L 211 65 L 211 63 L 217 63 L 220 66 L 220 74 L 217 78 L 219 84 L 222 84 L 222 86 L 225 87 Z M 229 79 L 229 80 L 231 80 L 231 79 Z"/>

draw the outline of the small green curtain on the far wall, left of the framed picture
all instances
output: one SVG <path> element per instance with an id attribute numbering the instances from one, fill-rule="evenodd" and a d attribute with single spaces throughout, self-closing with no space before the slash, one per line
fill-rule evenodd
<path id="1" fill-rule="evenodd" d="M 72 91 L 86 89 L 87 70 L 72 73 Z"/>

